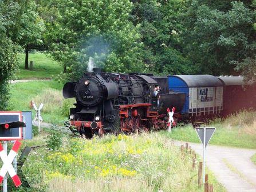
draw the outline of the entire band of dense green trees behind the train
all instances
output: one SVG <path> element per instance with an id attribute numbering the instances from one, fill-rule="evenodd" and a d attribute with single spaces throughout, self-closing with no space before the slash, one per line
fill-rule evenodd
<path id="1" fill-rule="evenodd" d="M 256 79 L 256 1 L 0 0 L 0 98 L 17 54 L 44 50 L 77 79 L 89 59 L 117 72 Z M 0 102 L 4 109 L 6 102 Z"/>

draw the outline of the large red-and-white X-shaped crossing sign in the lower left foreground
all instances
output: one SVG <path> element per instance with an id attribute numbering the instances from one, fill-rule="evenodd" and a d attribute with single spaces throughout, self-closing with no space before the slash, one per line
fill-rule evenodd
<path id="1" fill-rule="evenodd" d="M 3 149 L 3 146 L 0 143 L 0 158 L 3 161 L 3 166 L 0 170 L 0 183 L 2 183 L 3 178 L 5 178 L 5 175 L 8 171 L 11 179 L 13 179 L 14 185 L 16 187 L 21 185 L 21 180 L 19 179 L 13 165 L 11 164 L 13 162 L 13 159 L 17 155 L 17 152 L 20 146 L 21 146 L 21 142 L 15 141 L 13 148 L 10 150 L 10 153 L 7 156 L 7 151 Z"/>

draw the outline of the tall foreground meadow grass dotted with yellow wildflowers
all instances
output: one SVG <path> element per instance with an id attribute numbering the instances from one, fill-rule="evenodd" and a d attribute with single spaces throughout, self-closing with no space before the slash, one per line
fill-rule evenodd
<path id="1" fill-rule="evenodd" d="M 34 139 L 45 141 L 41 135 Z M 190 155 L 181 154 L 159 133 L 101 139 L 64 136 L 57 151 L 31 151 L 23 173 L 33 191 L 203 191 Z M 209 178 L 215 191 L 226 191 L 214 175 Z"/>

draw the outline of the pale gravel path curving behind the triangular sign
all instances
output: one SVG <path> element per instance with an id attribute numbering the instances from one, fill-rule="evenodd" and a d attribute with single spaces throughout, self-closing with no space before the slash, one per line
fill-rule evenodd
<path id="1" fill-rule="evenodd" d="M 174 143 L 185 145 L 179 141 Z M 190 143 L 190 146 L 203 157 L 202 144 Z M 209 145 L 206 149 L 206 166 L 214 172 L 227 191 L 256 192 L 256 165 L 250 159 L 255 153 L 253 149 Z"/>

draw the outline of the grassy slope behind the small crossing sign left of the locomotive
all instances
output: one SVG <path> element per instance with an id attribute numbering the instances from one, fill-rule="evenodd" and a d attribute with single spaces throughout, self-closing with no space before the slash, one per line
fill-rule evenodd
<path id="1" fill-rule="evenodd" d="M 63 125 L 67 117 L 62 113 L 62 103 L 64 101 L 61 91 L 62 86 L 62 83 L 53 80 L 11 84 L 8 110 L 31 110 L 34 117 L 35 110 L 30 108 L 30 101 L 36 101 L 37 107 L 42 102 L 44 107 L 41 114 L 44 122 Z M 66 107 L 69 108 L 71 106 L 72 101 Z"/>

